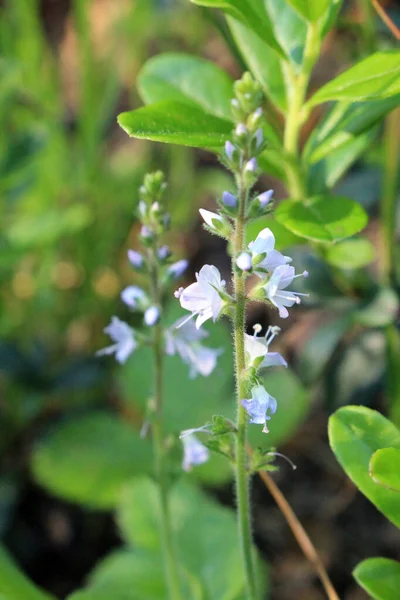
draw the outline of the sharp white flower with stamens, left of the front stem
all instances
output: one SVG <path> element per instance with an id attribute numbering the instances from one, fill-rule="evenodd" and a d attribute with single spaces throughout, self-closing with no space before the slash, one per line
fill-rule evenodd
<path id="1" fill-rule="evenodd" d="M 225 281 L 213 265 L 204 265 L 196 273 L 196 279 L 187 288 L 175 292 L 175 297 L 179 298 L 182 308 L 192 313 L 192 317 L 197 316 L 196 327 L 199 329 L 207 319 L 216 321 L 221 313 L 225 304 L 221 298 L 221 294 L 225 294 Z"/>

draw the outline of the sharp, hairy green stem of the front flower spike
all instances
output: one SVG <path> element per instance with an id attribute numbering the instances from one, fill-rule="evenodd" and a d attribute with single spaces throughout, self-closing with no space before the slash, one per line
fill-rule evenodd
<path id="1" fill-rule="evenodd" d="M 245 209 L 247 191 L 243 182 L 239 182 L 239 214 L 236 219 L 235 231 L 235 256 L 240 253 L 244 245 L 245 233 Z M 232 261 L 232 262 L 233 262 Z M 247 414 L 241 401 L 246 397 L 246 382 L 244 378 L 245 348 L 244 331 L 246 325 L 246 289 L 245 276 L 243 272 L 235 269 L 233 264 L 233 282 L 235 295 L 235 317 L 233 323 L 234 345 L 235 345 L 235 370 L 237 390 L 237 436 L 236 436 L 236 499 L 238 512 L 239 537 L 242 549 L 243 564 L 246 575 L 248 600 L 257 600 L 253 543 L 251 534 L 250 497 L 249 497 L 249 475 L 247 472 Z"/>

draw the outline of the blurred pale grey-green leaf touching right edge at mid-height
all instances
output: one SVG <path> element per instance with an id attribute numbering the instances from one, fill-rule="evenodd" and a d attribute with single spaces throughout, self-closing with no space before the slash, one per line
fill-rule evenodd
<path id="1" fill-rule="evenodd" d="M 354 313 L 354 318 L 364 327 L 384 327 L 396 322 L 398 309 L 397 294 L 391 288 L 382 287 Z"/>

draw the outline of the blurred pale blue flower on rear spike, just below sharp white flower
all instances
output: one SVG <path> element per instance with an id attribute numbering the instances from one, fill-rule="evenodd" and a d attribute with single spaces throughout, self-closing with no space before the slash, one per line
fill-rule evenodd
<path id="1" fill-rule="evenodd" d="M 192 321 L 185 317 L 174 323 L 165 332 L 165 352 L 173 356 L 179 354 L 189 370 L 189 377 L 196 375 L 208 377 L 217 365 L 217 358 L 222 354 L 221 348 L 207 348 L 200 342 L 208 337 L 208 333 L 196 328 Z"/>

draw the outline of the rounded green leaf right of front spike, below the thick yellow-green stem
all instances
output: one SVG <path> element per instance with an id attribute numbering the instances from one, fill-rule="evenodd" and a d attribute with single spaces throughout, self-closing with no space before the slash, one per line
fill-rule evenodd
<path id="1" fill-rule="evenodd" d="M 278 206 L 275 217 L 296 235 L 325 243 L 358 233 L 368 220 L 357 202 L 342 196 L 314 196 L 306 204 L 285 200 Z"/>

